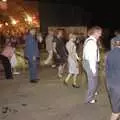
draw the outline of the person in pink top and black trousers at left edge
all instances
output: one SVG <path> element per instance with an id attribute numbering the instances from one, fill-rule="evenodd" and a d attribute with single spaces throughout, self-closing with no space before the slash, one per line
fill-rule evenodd
<path id="1" fill-rule="evenodd" d="M 5 48 L 3 49 L 2 53 L 0 54 L 0 60 L 5 70 L 6 79 L 13 79 L 12 68 L 11 68 L 11 63 L 10 63 L 10 60 L 13 54 L 14 54 L 14 48 L 11 42 L 8 42 L 5 45 Z"/>

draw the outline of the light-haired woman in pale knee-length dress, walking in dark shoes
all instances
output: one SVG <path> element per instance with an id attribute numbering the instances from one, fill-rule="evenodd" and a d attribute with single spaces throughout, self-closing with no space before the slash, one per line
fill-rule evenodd
<path id="1" fill-rule="evenodd" d="M 64 84 L 67 85 L 69 79 L 73 75 L 73 84 L 72 86 L 75 88 L 79 88 L 79 86 L 76 83 L 77 76 L 79 74 L 79 64 L 78 61 L 80 60 L 77 52 L 76 52 L 76 46 L 75 46 L 75 40 L 76 36 L 74 34 L 69 35 L 69 41 L 66 44 L 66 49 L 68 51 L 68 69 L 69 74 L 67 78 L 64 80 Z"/>

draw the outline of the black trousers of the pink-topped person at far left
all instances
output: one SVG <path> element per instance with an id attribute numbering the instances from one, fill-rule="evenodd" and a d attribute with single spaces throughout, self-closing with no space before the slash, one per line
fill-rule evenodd
<path id="1" fill-rule="evenodd" d="M 6 79 L 12 79 L 13 78 L 12 69 L 11 69 L 11 64 L 10 64 L 8 57 L 5 57 L 4 55 L 0 55 L 0 60 L 5 70 Z"/>

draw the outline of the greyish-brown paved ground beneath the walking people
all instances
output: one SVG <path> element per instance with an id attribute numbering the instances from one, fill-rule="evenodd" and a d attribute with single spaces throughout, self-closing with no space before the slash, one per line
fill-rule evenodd
<path id="1" fill-rule="evenodd" d="M 101 75 L 102 76 L 102 75 Z M 40 81 L 31 84 L 27 73 L 15 76 L 14 80 L 0 80 L 0 120 L 109 120 L 111 113 L 100 77 L 98 102 L 84 104 L 86 81 L 79 76 L 81 87 L 66 88 L 57 78 L 56 70 L 41 67 Z"/>

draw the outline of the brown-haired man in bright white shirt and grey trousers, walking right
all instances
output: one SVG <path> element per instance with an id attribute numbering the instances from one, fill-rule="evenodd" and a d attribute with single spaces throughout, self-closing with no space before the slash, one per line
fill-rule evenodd
<path id="1" fill-rule="evenodd" d="M 97 41 L 102 35 L 102 29 L 99 26 L 92 27 L 88 31 L 89 37 L 84 42 L 83 47 L 83 68 L 87 73 L 88 92 L 86 103 L 95 103 L 95 93 L 98 85 L 98 62 L 99 48 Z"/>

